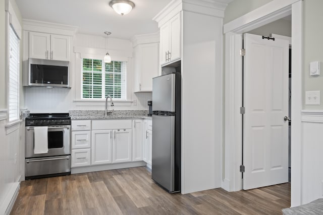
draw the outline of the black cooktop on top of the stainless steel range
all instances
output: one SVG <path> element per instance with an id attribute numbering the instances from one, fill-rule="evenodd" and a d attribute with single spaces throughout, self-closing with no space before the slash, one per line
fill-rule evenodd
<path id="1" fill-rule="evenodd" d="M 31 113 L 26 118 L 26 126 L 70 125 L 68 113 Z"/>

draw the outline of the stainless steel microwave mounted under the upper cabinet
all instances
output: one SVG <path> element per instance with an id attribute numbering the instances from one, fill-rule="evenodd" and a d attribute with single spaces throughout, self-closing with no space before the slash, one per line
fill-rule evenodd
<path id="1" fill-rule="evenodd" d="M 24 86 L 70 88 L 70 62 L 29 58 L 24 61 Z"/>

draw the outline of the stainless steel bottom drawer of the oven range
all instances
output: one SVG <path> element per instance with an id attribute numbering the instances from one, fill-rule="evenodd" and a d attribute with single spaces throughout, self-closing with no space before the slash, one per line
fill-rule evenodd
<path id="1" fill-rule="evenodd" d="M 71 156 L 31 158 L 25 160 L 25 177 L 71 172 Z"/>

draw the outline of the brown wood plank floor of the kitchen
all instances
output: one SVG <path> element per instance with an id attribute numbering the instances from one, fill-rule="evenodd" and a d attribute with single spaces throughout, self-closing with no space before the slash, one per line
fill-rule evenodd
<path id="1" fill-rule="evenodd" d="M 282 214 L 289 206 L 289 183 L 170 194 L 138 167 L 23 181 L 11 214 Z"/>

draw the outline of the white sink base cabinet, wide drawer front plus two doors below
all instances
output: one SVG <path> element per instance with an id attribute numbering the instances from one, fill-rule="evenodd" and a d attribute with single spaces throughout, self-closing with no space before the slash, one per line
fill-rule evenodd
<path id="1" fill-rule="evenodd" d="M 92 121 L 92 165 L 132 161 L 131 120 Z"/>

